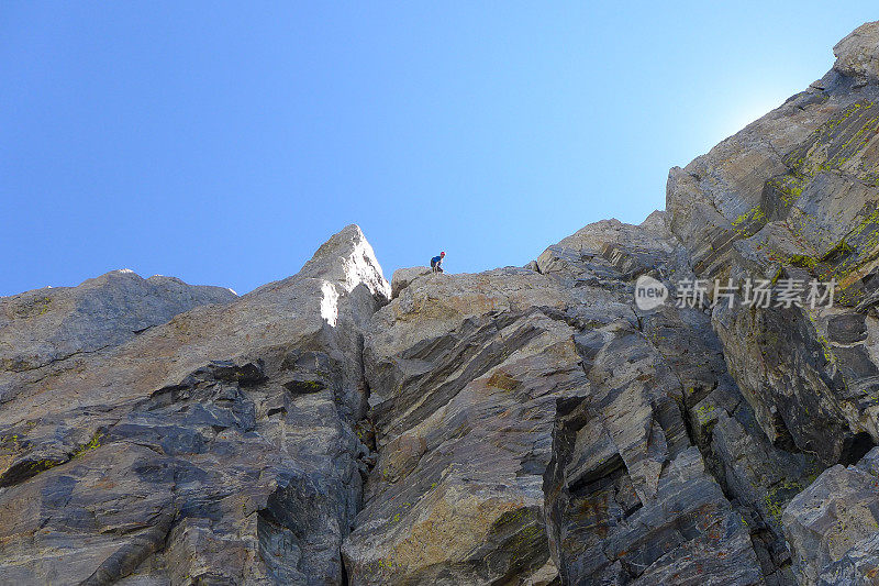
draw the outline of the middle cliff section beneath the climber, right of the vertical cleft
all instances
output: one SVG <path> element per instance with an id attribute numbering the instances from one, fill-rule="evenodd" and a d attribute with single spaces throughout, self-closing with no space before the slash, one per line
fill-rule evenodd
<path id="1" fill-rule="evenodd" d="M 639 275 L 689 270 L 677 251 L 661 213 L 599 222 L 541 274 L 432 276 L 376 313 L 378 458 L 343 548 L 352 584 L 488 584 L 547 559 L 565 584 L 760 583 L 757 529 L 689 431 L 688 401 L 744 402 L 710 320 L 633 305 Z"/>

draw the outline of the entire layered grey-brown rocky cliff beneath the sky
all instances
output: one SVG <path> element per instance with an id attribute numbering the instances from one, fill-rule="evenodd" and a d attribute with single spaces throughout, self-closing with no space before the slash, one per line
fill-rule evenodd
<path id="1" fill-rule="evenodd" d="M 879 584 L 879 23 L 834 52 L 524 268 L 391 287 L 351 225 L 0 299 L 0 583 Z"/>

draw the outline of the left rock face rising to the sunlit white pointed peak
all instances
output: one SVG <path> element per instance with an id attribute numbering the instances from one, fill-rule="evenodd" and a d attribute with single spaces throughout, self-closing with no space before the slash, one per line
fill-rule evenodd
<path id="1" fill-rule="evenodd" d="M 389 295 L 348 226 L 286 280 L 3 372 L 0 583 L 342 583 L 361 331 Z"/>

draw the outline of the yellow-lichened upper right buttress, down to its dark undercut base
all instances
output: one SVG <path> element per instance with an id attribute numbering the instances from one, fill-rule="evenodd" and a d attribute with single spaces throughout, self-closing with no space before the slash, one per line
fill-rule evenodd
<path id="1" fill-rule="evenodd" d="M 859 59 L 853 55 L 866 46 L 864 31 L 852 37 L 858 46 L 850 40 L 837 46 L 841 59 Z M 837 306 L 869 310 L 879 88 L 856 84 L 839 67 L 671 170 L 670 225 L 698 277 L 739 285 L 747 277 L 835 279 Z M 856 460 L 852 446 L 861 434 L 879 439 L 872 342 L 863 330 L 842 332 L 841 313 L 739 305 L 719 306 L 712 318 L 730 371 L 769 439 L 815 453 L 825 465 Z"/>

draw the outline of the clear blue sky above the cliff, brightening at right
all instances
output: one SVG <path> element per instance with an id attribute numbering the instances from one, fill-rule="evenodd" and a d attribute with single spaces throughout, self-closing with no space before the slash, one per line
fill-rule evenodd
<path id="1" fill-rule="evenodd" d="M 872 10 L 870 10 L 872 9 Z M 639 222 L 879 19 L 791 2 L 0 3 L 0 295 L 246 292 L 356 222 L 386 276 Z"/>

